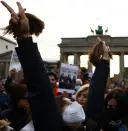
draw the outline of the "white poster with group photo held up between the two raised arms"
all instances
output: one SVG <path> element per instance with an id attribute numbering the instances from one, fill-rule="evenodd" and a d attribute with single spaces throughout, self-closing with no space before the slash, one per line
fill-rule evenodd
<path id="1" fill-rule="evenodd" d="M 59 76 L 59 92 L 67 91 L 68 93 L 74 93 L 77 75 L 78 66 L 62 63 Z"/>

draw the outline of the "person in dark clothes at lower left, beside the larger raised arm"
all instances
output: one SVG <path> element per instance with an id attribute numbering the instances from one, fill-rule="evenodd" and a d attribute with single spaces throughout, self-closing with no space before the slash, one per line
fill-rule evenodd
<path id="1" fill-rule="evenodd" d="M 27 85 L 21 80 L 19 83 L 11 82 L 10 85 L 8 83 L 6 86 L 9 89 L 9 107 L 3 110 L 1 114 L 8 118 L 16 131 L 20 131 L 31 118 Z"/>

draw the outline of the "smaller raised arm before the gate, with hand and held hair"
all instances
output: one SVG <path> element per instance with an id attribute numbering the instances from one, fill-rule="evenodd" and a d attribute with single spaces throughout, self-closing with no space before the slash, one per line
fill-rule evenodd
<path id="1" fill-rule="evenodd" d="M 104 107 L 104 91 L 109 75 L 110 49 L 104 41 L 99 41 L 90 53 L 90 61 L 96 69 L 90 82 L 86 115 L 99 120 Z"/>

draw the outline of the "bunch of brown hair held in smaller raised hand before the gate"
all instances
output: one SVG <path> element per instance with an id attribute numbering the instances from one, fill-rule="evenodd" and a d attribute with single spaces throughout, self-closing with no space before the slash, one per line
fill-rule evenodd
<path id="1" fill-rule="evenodd" d="M 90 62 L 95 65 L 100 59 L 102 59 L 105 55 L 106 43 L 102 41 L 100 38 L 98 39 L 98 43 L 95 44 L 89 53 Z M 110 58 L 112 58 L 111 51 L 108 52 Z"/>

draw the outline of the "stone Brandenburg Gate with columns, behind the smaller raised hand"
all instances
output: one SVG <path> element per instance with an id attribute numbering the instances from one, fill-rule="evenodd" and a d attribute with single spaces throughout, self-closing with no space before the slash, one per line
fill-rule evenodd
<path id="1" fill-rule="evenodd" d="M 62 38 L 62 42 L 58 45 L 60 47 L 60 61 L 62 63 L 68 62 L 68 56 L 74 55 L 74 64 L 80 66 L 80 56 L 87 55 L 92 46 L 96 43 L 97 37 L 106 41 L 110 46 L 114 55 L 119 55 L 120 76 L 123 77 L 124 55 L 128 54 L 128 37 L 111 37 L 109 35 L 91 35 L 83 38 Z M 118 65 L 117 65 L 118 66 Z M 88 68 L 92 69 L 92 65 L 88 62 Z"/>

